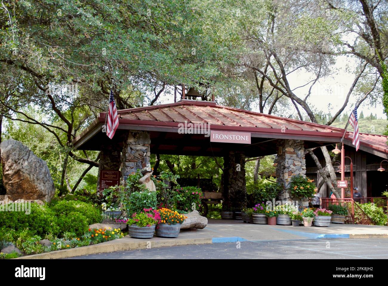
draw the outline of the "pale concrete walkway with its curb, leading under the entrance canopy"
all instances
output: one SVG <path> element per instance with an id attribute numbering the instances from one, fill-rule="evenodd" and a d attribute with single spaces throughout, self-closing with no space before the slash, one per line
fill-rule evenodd
<path id="1" fill-rule="evenodd" d="M 158 238 L 154 236 L 152 239 L 137 239 L 126 236 L 97 245 L 40 253 L 17 259 L 66 258 L 162 246 L 312 238 L 388 238 L 388 227 L 352 224 L 330 224 L 329 227 L 268 226 L 266 224 L 247 224 L 239 220 L 209 219 L 208 226 L 204 229 L 198 229 L 197 231 L 182 230 L 178 238 Z"/>

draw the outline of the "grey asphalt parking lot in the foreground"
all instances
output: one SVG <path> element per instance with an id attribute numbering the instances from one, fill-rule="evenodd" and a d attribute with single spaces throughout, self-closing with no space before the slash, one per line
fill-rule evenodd
<path id="1" fill-rule="evenodd" d="M 130 250 L 69 259 L 387 259 L 388 239 L 242 241 Z"/>

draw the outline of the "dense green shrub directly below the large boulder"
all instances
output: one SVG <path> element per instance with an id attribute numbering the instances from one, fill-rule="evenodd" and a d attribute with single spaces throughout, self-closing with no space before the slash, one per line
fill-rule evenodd
<path id="1" fill-rule="evenodd" d="M 0 226 L 15 231 L 29 229 L 33 234 L 44 236 L 46 233 L 57 234 L 55 213 L 47 205 L 31 203 L 31 214 L 25 212 L 0 212 Z"/>

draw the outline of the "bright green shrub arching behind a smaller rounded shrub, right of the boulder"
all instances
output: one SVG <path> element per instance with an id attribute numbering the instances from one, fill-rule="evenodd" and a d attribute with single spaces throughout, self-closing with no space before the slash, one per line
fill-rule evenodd
<path id="1" fill-rule="evenodd" d="M 89 203 L 79 201 L 60 201 L 55 203 L 51 208 L 54 210 L 57 217 L 68 216 L 70 213 L 77 212 L 85 217 L 88 225 L 101 222 L 100 210 Z"/>

